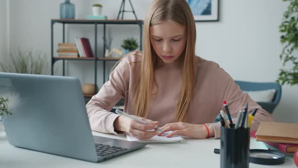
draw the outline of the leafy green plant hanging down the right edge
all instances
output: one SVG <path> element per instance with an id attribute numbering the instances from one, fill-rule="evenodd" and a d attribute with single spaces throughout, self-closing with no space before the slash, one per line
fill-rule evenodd
<path id="1" fill-rule="evenodd" d="M 283 62 L 283 68 L 280 69 L 277 81 L 281 85 L 298 84 L 298 61 L 296 53 L 298 48 L 298 0 L 283 0 L 284 2 L 289 1 L 290 4 L 287 10 L 283 14 L 283 20 L 279 26 L 279 31 L 282 33 L 280 36 L 280 42 L 283 46 L 280 59 Z M 285 65 L 290 64 L 291 68 L 285 68 Z"/>

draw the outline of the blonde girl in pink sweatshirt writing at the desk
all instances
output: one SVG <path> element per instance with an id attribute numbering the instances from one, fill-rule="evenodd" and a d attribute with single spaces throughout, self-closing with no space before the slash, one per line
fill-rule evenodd
<path id="1" fill-rule="evenodd" d="M 246 102 L 249 111 L 258 106 L 218 64 L 195 56 L 195 30 L 186 1 L 155 0 L 144 20 L 143 51 L 124 57 L 86 105 L 91 129 L 149 139 L 158 125 L 173 131 L 167 137 L 219 138 L 220 123 L 213 122 L 224 100 L 234 122 Z M 109 112 L 121 98 L 125 112 L 151 125 Z M 273 121 L 261 107 L 251 129 L 260 121 Z"/>

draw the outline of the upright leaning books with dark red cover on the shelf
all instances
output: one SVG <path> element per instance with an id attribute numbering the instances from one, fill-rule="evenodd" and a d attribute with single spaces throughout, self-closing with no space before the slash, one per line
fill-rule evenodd
<path id="1" fill-rule="evenodd" d="M 80 57 L 88 57 L 88 58 L 94 57 L 88 38 L 76 37 L 75 41 L 76 41 L 76 47 L 78 49 Z"/>

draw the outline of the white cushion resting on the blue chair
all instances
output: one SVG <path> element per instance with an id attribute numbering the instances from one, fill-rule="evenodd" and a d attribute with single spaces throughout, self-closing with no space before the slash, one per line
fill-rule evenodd
<path id="1" fill-rule="evenodd" d="M 250 97 L 255 102 L 271 103 L 273 101 L 276 90 L 269 89 L 269 90 L 262 90 L 262 91 L 243 91 L 243 92 L 249 94 Z"/>

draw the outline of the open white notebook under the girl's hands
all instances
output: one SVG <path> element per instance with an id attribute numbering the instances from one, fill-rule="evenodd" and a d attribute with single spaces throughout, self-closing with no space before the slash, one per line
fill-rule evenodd
<path id="1" fill-rule="evenodd" d="M 184 139 L 180 136 L 173 136 L 171 138 L 167 138 L 166 135 L 170 134 L 171 132 L 166 132 L 161 136 L 154 136 L 148 140 L 140 140 L 138 138 L 132 137 L 129 134 L 126 134 L 126 138 L 128 141 L 137 141 L 141 143 L 181 143 L 184 142 Z"/>

